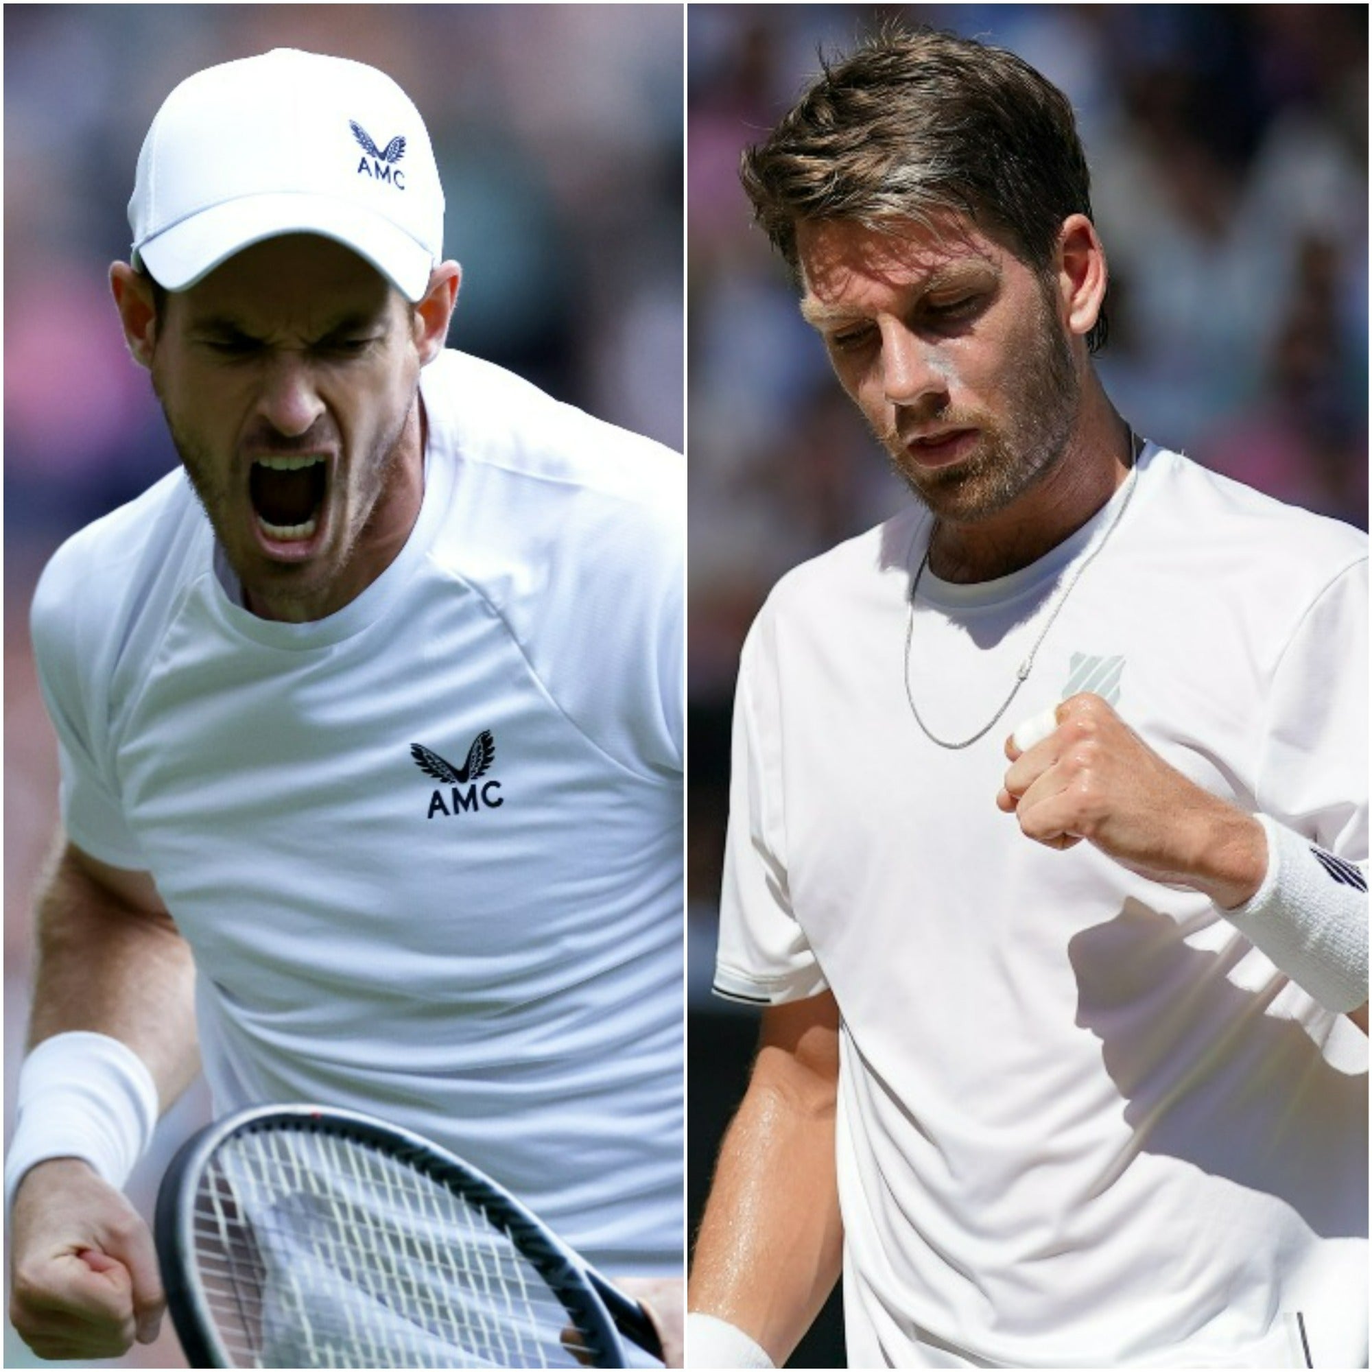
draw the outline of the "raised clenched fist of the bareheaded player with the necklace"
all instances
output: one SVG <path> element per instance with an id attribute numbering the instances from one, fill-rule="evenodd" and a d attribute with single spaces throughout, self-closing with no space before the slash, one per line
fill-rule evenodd
<path id="1" fill-rule="evenodd" d="M 1251 815 L 1165 763 L 1099 696 L 1056 709 L 1058 727 L 1011 761 L 996 804 L 1048 848 L 1085 838 L 1129 871 L 1207 895 L 1221 910 L 1262 885 L 1266 836 Z"/>

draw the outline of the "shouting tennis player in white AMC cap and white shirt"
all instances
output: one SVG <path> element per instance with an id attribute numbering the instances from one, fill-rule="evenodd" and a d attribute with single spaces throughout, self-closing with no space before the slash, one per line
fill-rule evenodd
<path id="1" fill-rule="evenodd" d="M 445 350 L 423 119 L 274 51 L 148 132 L 111 269 L 184 472 L 33 608 L 64 842 L 7 1159 L 19 1332 L 150 1340 L 121 1185 L 196 1069 L 495 1176 L 679 1349 L 682 465 Z"/>

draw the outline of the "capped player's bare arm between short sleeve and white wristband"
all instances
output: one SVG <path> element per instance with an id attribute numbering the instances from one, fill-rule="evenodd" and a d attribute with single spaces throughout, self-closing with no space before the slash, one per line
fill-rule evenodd
<path id="1" fill-rule="evenodd" d="M 166 1109 L 198 1069 L 195 967 L 170 916 L 136 903 L 139 881 L 114 892 L 73 849 L 56 858 L 38 900 L 29 1047 L 73 1029 L 118 1039 Z"/>

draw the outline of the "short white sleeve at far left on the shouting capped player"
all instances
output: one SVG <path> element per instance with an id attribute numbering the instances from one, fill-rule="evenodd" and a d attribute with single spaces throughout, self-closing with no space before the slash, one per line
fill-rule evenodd
<path id="1" fill-rule="evenodd" d="M 70 545 L 38 580 L 30 611 L 43 701 L 58 735 L 59 803 L 67 837 L 111 867 L 147 867 L 119 794 L 108 729 L 108 664 L 92 631 L 92 586 Z"/>

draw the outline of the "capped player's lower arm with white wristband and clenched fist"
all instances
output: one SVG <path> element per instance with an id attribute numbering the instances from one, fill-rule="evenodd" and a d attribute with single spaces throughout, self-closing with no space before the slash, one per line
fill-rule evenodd
<path id="1" fill-rule="evenodd" d="M 152 879 L 62 849 L 33 991 L 5 1157 L 10 1313 L 44 1357 L 117 1357 L 156 1336 L 163 1303 L 121 1188 L 196 1069 L 191 954 Z"/>

